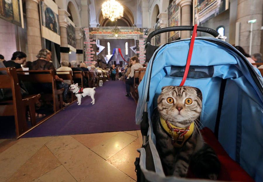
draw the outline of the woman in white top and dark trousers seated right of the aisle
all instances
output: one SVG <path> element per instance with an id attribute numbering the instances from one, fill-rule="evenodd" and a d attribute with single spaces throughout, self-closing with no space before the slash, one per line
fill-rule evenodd
<path id="1" fill-rule="evenodd" d="M 143 66 L 139 63 L 139 59 L 137 56 L 132 56 L 130 59 L 131 62 L 131 73 L 129 73 L 126 81 L 125 81 L 125 85 L 126 85 L 126 96 L 129 97 L 130 95 L 130 87 L 131 85 L 133 85 L 134 83 L 134 70 L 139 69 L 139 68 L 143 68 Z M 139 79 L 138 79 L 139 81 Z M 136 80 L 135 80 L 136 82 Z"/>

